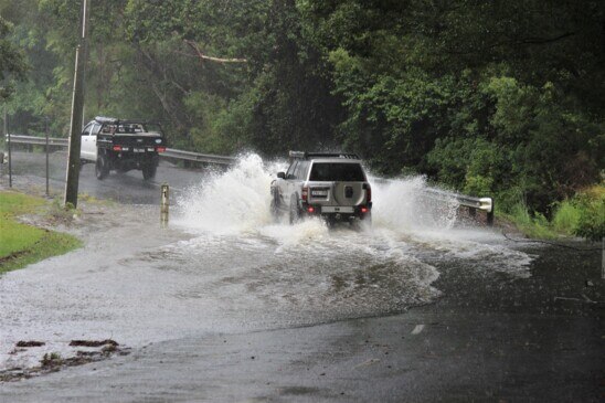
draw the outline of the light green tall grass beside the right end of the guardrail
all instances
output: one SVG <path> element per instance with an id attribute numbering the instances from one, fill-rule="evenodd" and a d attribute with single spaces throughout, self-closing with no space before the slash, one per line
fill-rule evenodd
<path id="1" fill-rule="evenodd" d="M 605 184 L 587 188 L 556 203 L 550 220 L 540 213 L 531 214 L 522 202 L 500 215 L 530 237 L 581 236 L 588 241 L 601 241 L 605 237 Z"/>

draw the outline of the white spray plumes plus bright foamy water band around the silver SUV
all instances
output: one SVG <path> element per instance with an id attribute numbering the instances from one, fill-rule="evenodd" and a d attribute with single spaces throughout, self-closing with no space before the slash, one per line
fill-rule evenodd
<path id="1" fill-rule="evenodd" d="M 296 255 L 310 248 L 315 252 L 311 261 L 330 258 L 333 248 L 354 253 L 371 248 L 374 255 L 404 251 L 410 258 L 432 251 L 433 256 L 484 262 L 480 266 L 489 269 L 521 276 L 528 273 L 531 258 L 502 245 L 495 233 L 455 229 L 456 200 L 435 199 L 426 192 L 429 187 L 423 177 L 371 178 L 373 229 L 367 232 L 328 230 L 321 220 L 275 223 L 269 213 L 269 187 L 275 173 L 284 169 L 285 162 L 267 163 L 256 155 L 242 157 L 232 169 L 210 174 L 179 200 L 178 225 L 205 236 L 264 240 L 276 244 L 275 253 Z M 328 251 L 321 251 L 326 245 Z"/>

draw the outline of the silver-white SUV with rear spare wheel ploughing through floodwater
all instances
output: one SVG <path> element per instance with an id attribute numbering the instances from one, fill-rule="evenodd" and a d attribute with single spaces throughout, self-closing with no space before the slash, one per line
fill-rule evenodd
<path id="1" fill-rule="evenodd" d="M 291 163 L 270 184 L 274 216 L 287 213 L 290 224 L 305 216 L 328 223 L 372 220 L 372 189 L 353 153 L 289 152 Z"/>

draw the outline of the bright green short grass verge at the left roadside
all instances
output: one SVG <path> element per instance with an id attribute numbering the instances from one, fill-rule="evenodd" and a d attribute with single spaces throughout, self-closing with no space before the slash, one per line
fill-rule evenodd
<path id="1" fill-rule="evenodd" d="M 29 214 L 54 216 L 56 210 L 44 199 L 0 191 L 0 274 L 82 246 L 82 242 L 70 234 L 19 221 L 19 216 Z"/>

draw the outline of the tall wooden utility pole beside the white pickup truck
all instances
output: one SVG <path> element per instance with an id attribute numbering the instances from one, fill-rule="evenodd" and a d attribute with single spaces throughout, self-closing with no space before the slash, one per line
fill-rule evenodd
<path id="1" fill-rule="evenodd" d="M 84 110 L 84 70 L 86 66 L 86 30 L 88 25 L 91 0 L 83 0 L 79 15 L 79 43 L 76 47 L 74 89 L 72 97 L 72 119 L 70 124 L 70 151 L 67 178 L 65 180 L 65 206 L 77 206 L 77 188 L 79 180 L 79 148 L 82 134 L 82 113 Z"/>

